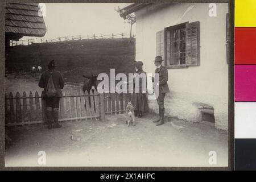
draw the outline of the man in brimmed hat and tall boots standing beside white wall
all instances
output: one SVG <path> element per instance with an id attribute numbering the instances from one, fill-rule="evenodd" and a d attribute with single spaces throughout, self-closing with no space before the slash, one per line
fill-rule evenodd
<path id="1" fill-rule="evenodd" d="M 156 126 L 163 125 L 164 123 L 164 97 L 166 96 L 166 93 L 170 92 L 167 81 L 168 81 L 168 71 L 166 68 L 162 66 L 162 56 L 156 56 L 154 63 L 156 66 L 155 73 L 158 73 L 159 75 L 159 96 L 156 99 L 158 102 L 159 107 L 159 118 L 156 121 L 153 121 L 156 123 Z M 152 81 L 154 82 L 154 77 L 152 77 Z"/>

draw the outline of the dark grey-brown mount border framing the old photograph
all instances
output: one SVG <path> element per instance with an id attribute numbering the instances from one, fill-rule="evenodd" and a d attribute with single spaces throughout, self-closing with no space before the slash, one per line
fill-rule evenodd
<path id="1" fill-rule="evenodd" d="M 5 167 L 5 3 L 7 2 L 40 2 L 40 1 L 1 1 L 0 9 L 0 84 L 2 89 L 0 90 L 0 170 L 120 170 L 120 171 L 131 171 L 131 170 L 150 170 L 150 171 L 168 171 L 168 170 L 233 170 L 234 169 L 234 0 L 214 0 L 214 1 L 203 1 L 203 0 L 169 0 L 169 1 L 68 1 L 68 0 L 44 0 L 44 3 L 93 3 L 93 2 L 104 2 L 104 3 L 132 3 L 132 2 L 151 2 L 151 3 L 229 3 L 229 101 L 228 101 L 228 167 Z"/>

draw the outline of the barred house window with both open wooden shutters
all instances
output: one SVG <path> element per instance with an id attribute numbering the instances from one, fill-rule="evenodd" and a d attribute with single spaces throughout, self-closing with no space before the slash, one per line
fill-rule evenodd
<path id="1" fill-rule="evenodd" d="M 199 22 L 181 23 L 156 33 L 156 55 L 163 57 L 166 68 L 200 65 Z"/>

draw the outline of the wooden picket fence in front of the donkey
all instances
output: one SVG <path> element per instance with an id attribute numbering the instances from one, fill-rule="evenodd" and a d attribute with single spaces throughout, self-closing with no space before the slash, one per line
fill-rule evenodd
<path id="1" fill-rule="evenodd" d="M 60 100 L 59 121 L 86 121 L 88 119 L 105 119 L 105 114 L 122 114 L 132 95 L 127 93 L 90 93 L 82 90 L 63 92 Z M 90 102 L 89 102 L 90 100 Z M 46 103 L 35 92 L 22 96 L 12 92 L 5 96 L 6 126 L 31 125 L 46 123 Z"/>

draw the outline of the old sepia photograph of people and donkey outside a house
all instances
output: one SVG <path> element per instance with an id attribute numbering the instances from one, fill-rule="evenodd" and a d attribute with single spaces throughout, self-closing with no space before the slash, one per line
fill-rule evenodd
<path id="1" fill-rule="evenodd" d="M 229 3 L 6 3 L 6 167 L 228 167 Z"/>

